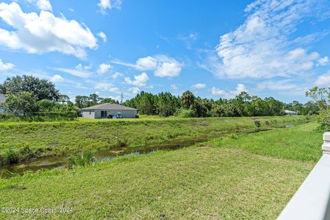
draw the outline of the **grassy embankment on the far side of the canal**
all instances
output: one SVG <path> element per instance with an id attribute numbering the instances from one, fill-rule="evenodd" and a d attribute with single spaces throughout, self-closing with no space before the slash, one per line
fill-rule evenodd
<path id="1" fill-rule="evenodd" d="M 254 118 L 170 118 L 83 120 L 78 122 L 0 123 L 0 160 L 69 155 L 77 151 L 137 147 L 198 137 L 251 132 L 254 121 L 265 127 L 307 121 L 306 116 Z M 310 119 L 310 118 L 309 118 Z M 11 149 L 8 152 L 8 149 Z M 8 161 L 8 159 L 7 159 Z M 5 162 L 3 162 L 4 164 Z"/>

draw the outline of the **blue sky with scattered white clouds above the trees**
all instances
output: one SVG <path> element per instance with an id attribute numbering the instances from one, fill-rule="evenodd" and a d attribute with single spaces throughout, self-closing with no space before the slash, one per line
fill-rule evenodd
<path id="1" fill-rule="evenodd" d="M 241 91 L 305 102 L 330 84 L 330 3 L 16 0 L 0 3 L 0 82 L 32 74 L 63 94 Z"/>

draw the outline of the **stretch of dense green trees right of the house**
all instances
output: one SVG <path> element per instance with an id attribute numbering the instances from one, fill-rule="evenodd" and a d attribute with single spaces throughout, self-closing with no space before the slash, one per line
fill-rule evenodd
<path id="1" fill-rule="evenodd" d="M 239 116 L 271 116 L 284 115 L 284 110 L 298 111 L 301 115 L 318 113 L 314 102 L 302 104 L 298 101 L 284 103 L 275 98 L 250 96 L 245 91 L 232 99 L 219 98 L 213 100 L 195 96 L 185 91 L 181 96 L 173 96 L 169 92 L 151 94 L 140 92 L 134 98 L 123 103 L 127 107 L 139 109 L 140 114 L 180 117 L 239 117 Z"/>

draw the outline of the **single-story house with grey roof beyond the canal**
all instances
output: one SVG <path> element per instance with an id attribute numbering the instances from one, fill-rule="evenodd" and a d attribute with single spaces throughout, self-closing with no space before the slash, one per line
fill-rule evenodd
<path id="1" fill-rule="evenodd" d="M 81 109 L 84 118 L 135 118 L 137 109 L 120 104 L 97 104 Z"/>

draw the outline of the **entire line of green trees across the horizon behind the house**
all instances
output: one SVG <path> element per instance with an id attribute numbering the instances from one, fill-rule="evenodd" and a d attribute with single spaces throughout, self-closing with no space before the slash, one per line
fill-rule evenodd
<path id="1" fill-rule="evenodd" d="M 34 76 L 13 76 L 0 84 L 0 94 L 5 94 L 2 108 L 8 113 L 17 115 L 34 115 L 36 113 L 59 113 L 78 115 L 80 109 L 96 104 L 116 103 L 113 98 L 101 98 L 98 94 L 76 96 L 75 102 L 69 96 L 60 94 L 54 83 Z M 151 94 L 140 92 L 134 98 L 126 100 L 123 105 L 139 110 L 140 114 L 168 117 L 239 117 L 284 115 L 284 110 L 298 111 L 302 115 L 313 115 L 319 111 L 315 102 L 302 104 L 298 101 L 284 103 L 275 98 L 260 98 L 242 92 L 232 99 L 213 100 L 195 96 L 185 91 L 181 96 L 170 92 Z"/>

